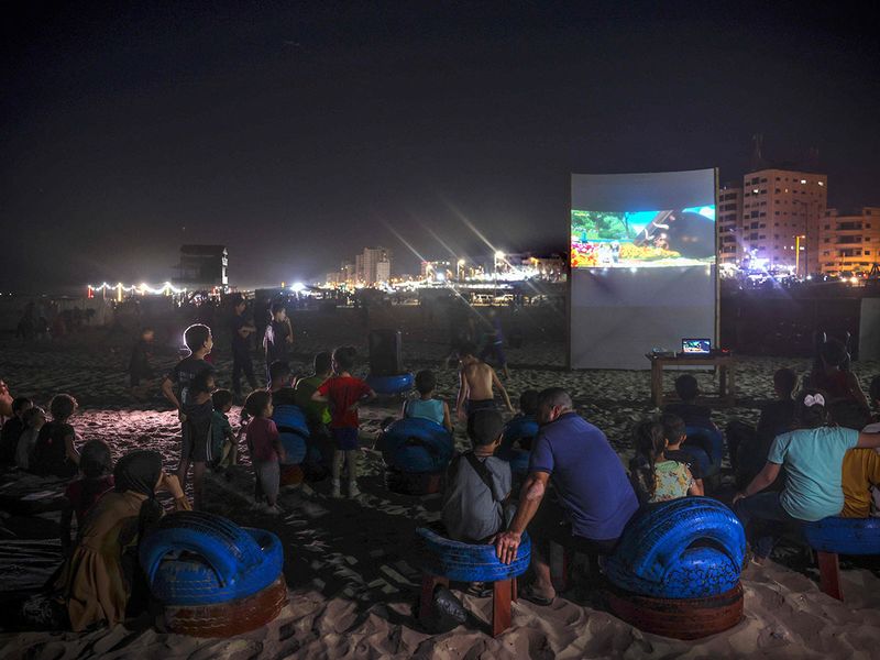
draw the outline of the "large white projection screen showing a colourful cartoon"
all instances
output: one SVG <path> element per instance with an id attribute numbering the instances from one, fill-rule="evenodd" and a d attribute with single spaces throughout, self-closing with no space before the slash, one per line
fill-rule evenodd
<path id="1" fill-rule="evenodd" d="M 573 174 L 569 363 L 649 369 L 717 340 L 716 170 Z"/>

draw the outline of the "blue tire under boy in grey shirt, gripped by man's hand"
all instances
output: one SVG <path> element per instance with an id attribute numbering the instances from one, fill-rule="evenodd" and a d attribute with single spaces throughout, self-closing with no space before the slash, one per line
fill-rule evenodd
<path id="1" fill-rule="evenodd" d="M 521 575 L 531 560 L 531 539 L 522 534 L 516 559 L 498 561 L 495 546 L 470 544 L 444 538 L 427 527 L 416 529 L 421 569 L 454 582 L 498 582 Z"/>

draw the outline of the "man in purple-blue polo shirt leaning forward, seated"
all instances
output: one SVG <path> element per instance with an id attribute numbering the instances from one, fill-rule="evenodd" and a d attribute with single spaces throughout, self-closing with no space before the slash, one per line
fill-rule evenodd
<path id="1" fill-rule="evenodd" d="M 549 605 L 556 597 L 547 560 L 549 542 L 607 554 L 639 504 L 605 435 L 574 413 L 564 389 L 544 389 L 538 406 L 541 430 L 531 450 L 529 475 L 516 516 L 508 530 L 496 537 L 495 550 L 501 561 L 510 563 L 529 527 L 536 581 L 522 597 Z M 559 504 L 549 501 L 541 506 L 551 475 Z"/>

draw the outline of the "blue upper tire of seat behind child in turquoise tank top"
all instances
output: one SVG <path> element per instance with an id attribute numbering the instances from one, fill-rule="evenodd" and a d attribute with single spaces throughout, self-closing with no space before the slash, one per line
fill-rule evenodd
<path id="1" fill-rule="evenodd" d="M 402 472 L 440 472 L 455 449 L 439 424 L 419 417 L 398 419 L 382 435 L 378 449 L 385 464 Z"/>

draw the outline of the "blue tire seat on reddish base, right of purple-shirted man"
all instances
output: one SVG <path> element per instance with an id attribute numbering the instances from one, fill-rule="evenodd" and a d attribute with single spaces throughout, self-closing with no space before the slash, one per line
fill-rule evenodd
<path id="1" fill-rule="evenodd" d="M 739 574 L 746 536 L 708 497 L 649 505 L 634 516 L 605 563 L 610 610 L 646 632 L 698 639 L 743 619 Z"/>

